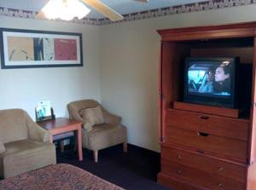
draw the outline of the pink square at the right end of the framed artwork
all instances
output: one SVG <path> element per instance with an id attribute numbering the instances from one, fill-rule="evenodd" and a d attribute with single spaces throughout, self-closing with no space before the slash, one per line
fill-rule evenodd
<path id="1" fill-rule="evenodd" d="M 55 60 L 78 60 L 76 40 L 55 38 Z"/>

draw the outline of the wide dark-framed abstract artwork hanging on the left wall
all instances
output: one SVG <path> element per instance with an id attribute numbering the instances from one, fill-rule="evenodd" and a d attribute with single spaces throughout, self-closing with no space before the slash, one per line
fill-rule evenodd
<path id="1" fill-rule="evenodd" d="M 0 28 L 1 67 L 83 66 L 82 33 Z"/>

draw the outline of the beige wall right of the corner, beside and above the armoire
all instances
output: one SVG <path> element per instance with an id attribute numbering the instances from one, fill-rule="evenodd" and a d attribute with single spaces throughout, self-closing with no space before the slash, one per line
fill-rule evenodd
<path id="1" fill-rule="evenodd" d="M 160 151 L 160 36 L 155 30 L 255 21 L 255 9 L 254 4 L 101 26 L 102 104 L 122 116 L 129 143 Z"/>

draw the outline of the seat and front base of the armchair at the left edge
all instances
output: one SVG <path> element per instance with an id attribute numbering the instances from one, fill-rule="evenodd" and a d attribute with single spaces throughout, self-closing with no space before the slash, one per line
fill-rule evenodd
<path id="1" fill-rule="evenodd" d="M 55 146 L 49 142 L 12 141 L 5 144 L 5 149 L 0 154 L 0 176 L 4 178 L 56 162 Z"/>

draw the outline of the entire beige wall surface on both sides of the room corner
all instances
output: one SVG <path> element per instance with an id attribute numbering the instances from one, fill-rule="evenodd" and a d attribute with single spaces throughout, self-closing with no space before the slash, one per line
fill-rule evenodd
<path id="1" fill-rule="evenodd" d="M 158 65 L 156 29 L 254 21 L 256 5 L 174 14 L 108 26 L 0 16 L 0 27 L 82 32 L 84 67 L 0 69 L 0 109 L 24 108 L 34 118 L 38 101 L 49 100 L 58 117 L 69 101 L 94 98 L 122 116 L 128 142 L 154 151 L 158 143 Z"/>

